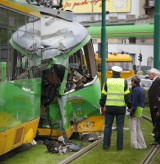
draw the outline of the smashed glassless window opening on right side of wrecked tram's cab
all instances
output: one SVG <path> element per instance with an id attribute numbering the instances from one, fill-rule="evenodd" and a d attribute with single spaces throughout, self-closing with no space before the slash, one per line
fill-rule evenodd
<path id="1" fill-rule="evenodd" d="M 94 51 L 89 42 L 69 58 L 69 71 L 65 92 L 80 89 L 97 75 Z"/>

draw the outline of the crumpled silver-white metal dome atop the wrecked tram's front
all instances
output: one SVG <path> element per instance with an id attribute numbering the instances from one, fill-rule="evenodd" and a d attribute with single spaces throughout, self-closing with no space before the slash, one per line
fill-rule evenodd
<path id="1" fill-rule="evenodd" d="M 77 22 L 47 17 L 20 27 L 12 35 L 12 41 L 30 52 L 35 48 L 41 49 L 42 59 L 48 59 L 66 53 L 82 42 L 87 35 L 87 30 Z M 36 53 L 39 55 L 38 51 Z"/>

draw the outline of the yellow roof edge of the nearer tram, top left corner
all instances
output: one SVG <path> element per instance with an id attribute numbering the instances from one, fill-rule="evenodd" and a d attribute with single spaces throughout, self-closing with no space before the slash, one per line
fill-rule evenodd
<path id="1" fill-rule="evenodd" d="M 41 16 L 39 11 L 37 11 L 33 6 L 29 5 L 23 0 L 1 0 L 0 6 L 19 11 L 27 15 L 32 15 L 36 17 Z"/>

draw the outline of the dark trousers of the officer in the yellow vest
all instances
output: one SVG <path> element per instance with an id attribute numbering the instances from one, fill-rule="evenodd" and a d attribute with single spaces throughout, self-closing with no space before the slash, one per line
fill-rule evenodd
<path id="1" fill-rule="evenodd" d="M 105 129 L 103 138 L 103 149 L 107 150 L 111 144 L 112 135 L 112 125 L 114 117 L 116 116 L 116 126 L 117 126 L 117 149 L 123 149 L 123 127 L 124 127 L 124 117 L 125 115 L 113 115 L 105 114 Z"/>

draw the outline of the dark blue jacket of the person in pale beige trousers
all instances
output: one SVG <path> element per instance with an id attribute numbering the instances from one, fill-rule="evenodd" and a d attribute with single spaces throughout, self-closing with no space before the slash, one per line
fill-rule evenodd
<path id="1" fill-rule="evenodd" d="M 145 93 L 144 90 L 140 87 L 140 85 L 132 87 L 131 100 L 132 111 L 130 112 L 130 116 L 133 116 L 137 106 L 144 108 Z"/>

